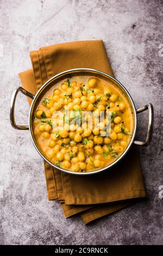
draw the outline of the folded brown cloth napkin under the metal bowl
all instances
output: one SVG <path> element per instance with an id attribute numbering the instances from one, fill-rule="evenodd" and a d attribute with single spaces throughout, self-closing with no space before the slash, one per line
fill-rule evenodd
<path id="1" fill-rule="evenodd" d="M 33 69 L 19 74 L 23 87 L 35 94 L 49 78 L 73 68 L 93 68 L 113 76 L 102 40 L 42 47 L 30 52 Z M 32 101 L 29 99 L 29 103 Z M 85 224 L 146 197 L 135 147 L 112 169 L 88 176 L 59 172 L 45 162 L 49 200 L 59 200 L 65 217 L 80 215 Z"/>

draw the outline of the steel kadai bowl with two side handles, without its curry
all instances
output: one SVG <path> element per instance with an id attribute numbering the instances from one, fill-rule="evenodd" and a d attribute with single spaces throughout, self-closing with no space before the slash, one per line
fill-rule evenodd
<path id="1" fill-rule="evenodd" d="M 108 82 L 111 82 L 116 87 L 118 87 L 121 90 L 121 92 L 124 94 L 124 96 L 126 96 L 127 100 L 129 101 L 132 112 L 133 112 L 133 117 L 134 117 L 134 129 L 133 129 L 132 136 L 131 136 L 130 142 L 129 142 L 126 150 L 124 150 L 122 155 L 120 157 L 118 157 L 116 161 L 109 164 L 109 166 L 105 166 L 104 168 L 101 168 L 101 169 L 98 169 L 98 170 L 95 170 L 95 171 L 92 171 L 92 172 L 72 172 L 70 170 L 62 169 L 59 166 L 55 166 L 55 164 L 53 164 L 48 159 L 46 159 L 46 157 L 40 151 L 39 147 L 36 144 L 36 141 L 35 141 L 35 138 L 34 138 L 34 131 L 33 131 L 33 120 L 34 120 L 34 117 L 35 117 L 36 107 L 37 107 L 38 103 L 40 102 L 42 96 L 47 92 L 47 90 L 49 90 L 52 86 L 55 86 L 55 84 L 58 83 L 59 81 L 61 81 L 63 79 L 67 79 L 67 77 L 81 76 L 81 75 L 96 76 L 97 78 L 102 78 L 104 80 L 107 80 Z M 24 95 L 30 97 L 31 99 L 33 99 L 32 105 L 30 106 L 28 125 L 17 125 L 15 123 L 14 109 L 15 109 L 16 96 L 17 96 L 18 92 L 21 92 L 22 94 L 24 94 Z M 139 114 L 143 111 L 146 111 L 146 110 L 148 110 L 147 135 L 146 135 L 145 141 L 136 141 L 135 140 L 135 135 L 136 135 L 136 128 L 137 128 L 137 114 Z M 149 142 L 151 141 L 151 138 L 152 138 L 154 115 L 153 115 L 153 106 L 152 106 L 151 103 L 148 103 L 147 105 L 136 109 L 135 105 L 134 105 L 134 102 L 133 102 L 133 99 L 131 98 L 127 89 L 124 88 L 124 86 L 120 82 L 118 82 L 114 77 L 112 77 L 108 74 L 105 74 L 102 71 L 98 71 L 98 70 L 94 70 L 94 69 L 80 68 L 80 69 L 67 70 L 67 71 L 61 72 L 60 74 L 58 74 L 56 76 L 53 76 L 45 84 L 43 84 L 43 86 L 39 89 L 39 91 L 36 93 L 36 95 L 33 95 L 33 94 L 27 92 L 27 90 L 23 89 L 22 87 L 18 87 L 14 91 L 14 93 L 12 94 L 12 97 L 11 97 L 10 122 L 11 122 L 11 125 L 17 130 L 29 130 L 30 137 L 32 138 L 35 149 L 37 150 L 37 152 L 42 156 L 42 158 L 45 161 L 47 161 L 49 164 L 51 164 L 51 166 L 57 168 L 58 170 L 60 170 L 62 172 L 68 173 L 68 174 L 91 175 L 91 174 L 97 174 L 97 173 L 104 172 L 104 170 L 108 170 L 111 167 L 115 166 L 115 164 L 120 162 L 122 160 L 122 158 L 124 157 L 124 155 L 126 155 L 128 153 L 132 144 L 136 144 L 136 145 L 139 145 L 139 146 L 147 146 L 149 144 Z"/>

